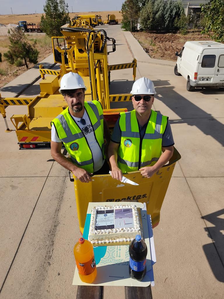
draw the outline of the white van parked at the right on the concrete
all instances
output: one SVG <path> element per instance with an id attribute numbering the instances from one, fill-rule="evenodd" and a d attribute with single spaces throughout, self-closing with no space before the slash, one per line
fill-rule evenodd
<path id="1" fill-rule="evenodd" d="M 195 87 L 224 86 L 224 44 L 212 41 L 185 42 L 176 52 L 174 74 L 187 80 L 187 90 Z"/>

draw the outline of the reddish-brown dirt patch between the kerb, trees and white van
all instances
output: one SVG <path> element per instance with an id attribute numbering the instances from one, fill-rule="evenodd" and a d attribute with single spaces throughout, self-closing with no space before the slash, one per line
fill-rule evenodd
<path id="1" fill-rule="evenodd" d="M 176 61 L 176 51 L 180 51 L 188 40 L 211 40 L 209 36 L 201 33 L 188 33 L 187 35 L 174 33 L 145 33 L 133 32 L 134 37 L 139 41 L 150 57 Z"/>

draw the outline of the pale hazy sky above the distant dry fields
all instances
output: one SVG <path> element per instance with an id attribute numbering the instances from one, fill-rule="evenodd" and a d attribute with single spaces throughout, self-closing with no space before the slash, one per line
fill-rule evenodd
<path id="1" fill-rule="evenodd" d="M 65 0 L 69 12 L 121 10 L 125 0 Z M 0 0 L 0 15 L 43 13 L 45 0 Z M 3 5 L 4 4 L 4 5 Z M 12 10 L 11 10 L 12 8 Z"/>

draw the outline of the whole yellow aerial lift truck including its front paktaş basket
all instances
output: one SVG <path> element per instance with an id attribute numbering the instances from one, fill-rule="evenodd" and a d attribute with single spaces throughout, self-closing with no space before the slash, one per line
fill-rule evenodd
<path id="1" fill-rule="evenodd" d="M 110 109 L 111 101 L 129 101 L 130 94 L 109 94 L 109 72 L 117 69 L 133 68 L 136 76 L 136 60 L 121 65 L 108 65 L 107 34 L 105 30 L 93 30 L 85 20 L 73 19 L 71 24 L 62 26 L 63 36 L 52 37 L 55 62 L 60 70 L 48 70 L 40 65 L 42 81 L 40 95 L 34 98 L 1 98 L 0 112 L 9 132 L 5 106 L 27 105 L 27 115 L 13 115 L 10 119 L 16 128 L 20 149 L 50 148 L 50 122 L 66 108 L 66 102 L 59 93 L 61 77 L 72 71 L 82 76 L 87 86 L 85 100 L 99 100 L 104 117 L 109 127 L 113 128 L 120 112 L 127 109 Z M 115 40 L 112 39 L 115 51 Z M 75 176 L 74 181 L 79 228 L 83 233 L 88 202 L 139 201 L 146 204 L 147 213 L 151 214 L 152 225 L 159 223 L 160 209 L 168 188 L 176 162 L 180 155 L 174 149 L 173 157 L 150 179 L 143 178 L 140 171 L 125 174 L 125 177 L 138 183 L 138 186 L 120 184 L 111 175 L 94 176 L 91 182 L 81 183 Z M 119 188 L 118 188 L 119 187 Z"/>

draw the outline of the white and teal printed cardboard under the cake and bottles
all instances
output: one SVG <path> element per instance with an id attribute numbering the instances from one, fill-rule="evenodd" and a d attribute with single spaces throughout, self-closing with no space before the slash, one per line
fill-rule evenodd
<path id="1" fill-rule="evenodd" d="M 117 205 L 117 202 L 107 203 Z M 133 202 L 125 202 L 125 204 L 133 204 Z M 97 276 L 92 284 L 83 283 L 79 278 L 77 268 L 73 277 L 73 285 L 92 285 L 92 286 L 149 286 L 150 283 L 154 286 L 154 275 L 152 266 L 156 262 L 155 249 L 153 242 L 153 234 L 151 227 L 151 217 L 147 215 L 145 205 L 139 202 L 134 203 L 137 208 L 141 208 L 142 226 L 145 243 L 148 248 L 146 257 L 147 273 L 142 281 L 131 279 L 129 276 L 129 245 L 115 246 L 97 246 L 94 247 L 94 255 L 97 267 Z M 93 206 L 103 205 L 102 202 L 89 203 L 87 217 L 83 237 L 88 239 L 90 216 Z M 145 209 L 145 210 L 144 210 Z M 149 228 L 149 229 L 148 229 Z"/>

